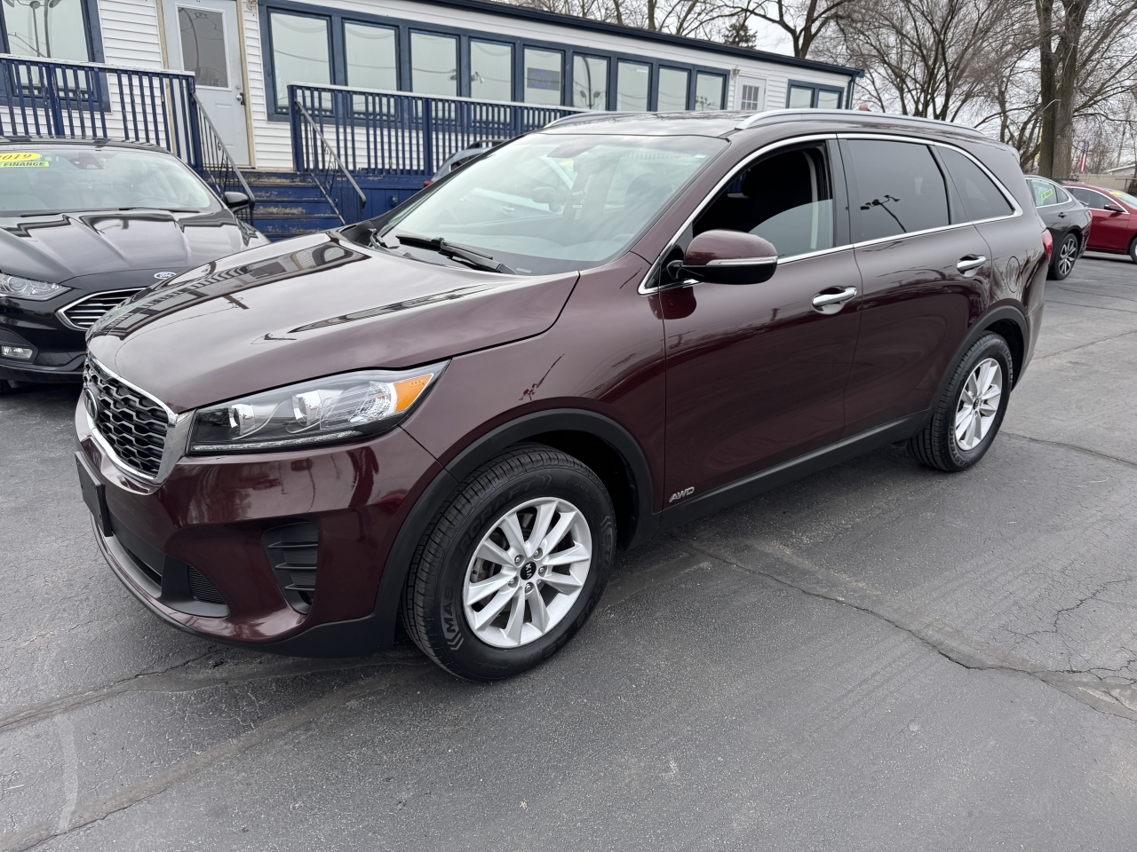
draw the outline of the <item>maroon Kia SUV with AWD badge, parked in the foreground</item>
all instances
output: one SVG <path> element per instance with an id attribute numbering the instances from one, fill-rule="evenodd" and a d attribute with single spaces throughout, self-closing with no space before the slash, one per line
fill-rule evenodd
<path id="1" fill-rule="evenodd" d="M 998 432 L 1047 249 L 1016 156 L 850 111 L 587 116 L 91 332 L 78 469 L 169 624 L 301 655 L 396 623 L 500 678 L 616 548 L 882 444 Z"/>

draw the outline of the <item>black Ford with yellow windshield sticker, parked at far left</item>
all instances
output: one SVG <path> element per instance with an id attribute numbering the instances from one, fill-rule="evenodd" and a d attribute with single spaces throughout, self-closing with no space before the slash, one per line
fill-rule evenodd
<path id="1" fill-rule="evenodd" d="M 83 377 L 84 335 L 140 290 L 266 244 L 164 149 L 0 139 L 0 393 Z"/>

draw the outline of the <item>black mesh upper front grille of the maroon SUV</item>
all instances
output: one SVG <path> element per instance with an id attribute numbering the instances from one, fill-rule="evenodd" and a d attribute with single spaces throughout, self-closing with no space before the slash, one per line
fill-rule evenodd
<path id="1" fill-rule="evenodd" d="M 147 476 L 157 476 L 166 449 L 166 409 L 103 373 L 92 358 L 86 359 L 84 381 L 98 399 L 94 427 L 119 461 Z"/>

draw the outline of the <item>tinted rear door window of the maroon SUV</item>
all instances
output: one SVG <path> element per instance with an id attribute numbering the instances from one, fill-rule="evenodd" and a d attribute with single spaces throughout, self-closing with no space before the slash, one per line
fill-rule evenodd
<path id="1" fill-rule="evenodd" d="M 926 145 L 850 140 L 860 240 L 947 225 L 947 187 Z"/>

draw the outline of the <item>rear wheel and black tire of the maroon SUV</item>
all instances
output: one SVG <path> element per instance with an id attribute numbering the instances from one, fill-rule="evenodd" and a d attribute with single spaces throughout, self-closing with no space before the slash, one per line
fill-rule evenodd
<path id="1" fill-rule="evenodd" d="M 966 470 L 998 434 L 1013 383 L 1006 341 L 994 333 L 982 335 L 956 365 L 928 425 L 908 440 L 908 451 L 937 470 Z"/>

